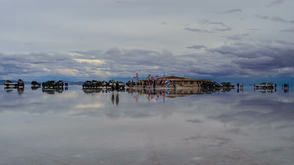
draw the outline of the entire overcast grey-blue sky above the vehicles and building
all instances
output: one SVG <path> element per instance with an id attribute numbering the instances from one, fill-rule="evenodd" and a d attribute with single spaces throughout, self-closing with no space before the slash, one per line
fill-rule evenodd
<path id="1" fill-rule="evenodd" d="M 293 0 L 0 0 L 0 80 L 294 78 Z M 133 79 L 134 80 L 134 79 Z"/>

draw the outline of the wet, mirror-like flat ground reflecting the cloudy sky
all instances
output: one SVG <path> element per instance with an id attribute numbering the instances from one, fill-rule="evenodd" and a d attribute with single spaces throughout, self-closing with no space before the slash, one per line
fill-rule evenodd
<path id="1" fill-rule="evenodd" d="M 0 165 L 294 165 L 291 90 L 0 88 Z"/>

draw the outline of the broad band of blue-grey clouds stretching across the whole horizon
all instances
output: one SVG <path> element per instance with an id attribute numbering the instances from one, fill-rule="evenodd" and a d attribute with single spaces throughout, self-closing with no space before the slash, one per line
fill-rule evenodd
<path id="1" fill-rule="evenodd" d="M 242 41 L 248 34 L 225 36 Z M 187 48 L 203 49 L 203 45 Z M 294 70 L 294 43 L 286 41 L 237 42 L 205 49 L 203 54 L 183 54 L 144 49 L 110 48 L 105 51 L 61 53 L 1 53 L 0 75 L 72 76 L 131 78 L 136 72 L 155 74 L 165 71 L 181 77 L 271 76 L 291 77 Z M 184 73 L 182 71 L 185 71 Z"/>

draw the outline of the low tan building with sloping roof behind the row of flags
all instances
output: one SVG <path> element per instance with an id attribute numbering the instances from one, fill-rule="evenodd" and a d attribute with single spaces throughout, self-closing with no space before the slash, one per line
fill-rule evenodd
<path id="1" fill-rule="evenodd" d="M 157 80 L 157 79 L 156 79 Z M 163 81 L 163 78 L 158 78 L 158 81 Z M 170 87 L 173 87 L 173 84 L 176 84 L 176 87 L 200 87 L 204 82 L 212 82 L 212 80 L 197 80 L 190 78 L 180 78 L 175 76 L 169 76 L 165 78 L 165 81 L 171 83 Z M 144 84 L 148 84 L 149 80 L 143 80 Z"/>

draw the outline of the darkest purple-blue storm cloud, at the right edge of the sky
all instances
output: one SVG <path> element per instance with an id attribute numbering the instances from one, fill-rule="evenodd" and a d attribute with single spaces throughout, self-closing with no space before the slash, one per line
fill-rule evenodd
<path id="1" fill-rule="evenodd" d="M 208 49 L 208 52 L 234 55 L 238 58 L 232 59 L 232 64 L 238 65 L 241 69 L 252 71 L 264 72 L 294 67 L 294 58 L 292 58 L 294 46 L 281 42 L 274 41 L 265 44 L 239 42 Z"/>

